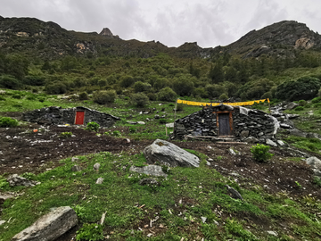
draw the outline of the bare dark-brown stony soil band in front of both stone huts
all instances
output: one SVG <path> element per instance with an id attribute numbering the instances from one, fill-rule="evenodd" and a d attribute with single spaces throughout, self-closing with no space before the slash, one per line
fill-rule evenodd
<path id="1" fill-rule="evenodd" d="M 37 129 L 37 132 L 34 132 Z M 123 133 L 128 128 L 120 129 Z M 106 131 L 101 129 L 100 133 Z M 74 137 L 62 138 L 62 132 L 72 132 Z M 39 173 L 61 165 L 59 160 L 75 155 L 98 152 L 130 154 L 142 152 L 153 140 L 128 140 L 124 137 L 98 137 L 95 132 L 76 126 L 57 127 L 30 124 L 11 129 L 0 129 L 0 175 L 24 172 Z M 291 161 L 300 157 L 292 149 L 272 147 L 271 162 L 255 162 L 251 155 L 251 145 L 244 143 L 212 143 L 206 141 L 176 142 L 187 149 L 208 155 L 212 160 L 209 168 L 215 168 L 241 185 L 264 187 L 269 193 L 286 192 L 289 195 L 312 194 L 321 199 L 319 187 L 313 184 L 313 171 L 302 161 Z M 230 151 L 233 149 L 235 154 Z M 320 155 L 316 155 L 320 158 Z M 299 158 L 300 159 L 300 158 Z M 302 157 L 301 160 L 304 160 Z M 299 185 L 300 184 L 300 185 Z M 249 188 L 249 187 L 245 187 Z"/>

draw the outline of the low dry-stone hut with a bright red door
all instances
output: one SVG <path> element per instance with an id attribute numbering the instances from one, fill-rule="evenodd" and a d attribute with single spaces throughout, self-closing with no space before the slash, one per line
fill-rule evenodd
<path id="1" fill-rule="evenodd" d="M 62 107 L 51 106 L 24 112 L 22 120 L 37 122 L 38 124 L 54 125 L 86 125 L 88 122 L 95 121 L 101 127 L 111 127 L 119 117 L 108 113 L 97 112 L 86 107 L 74 107 L 62 109 Z"/>

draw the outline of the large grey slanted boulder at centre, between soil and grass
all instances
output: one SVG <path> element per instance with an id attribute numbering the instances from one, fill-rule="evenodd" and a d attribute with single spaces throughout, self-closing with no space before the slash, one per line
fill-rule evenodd
<path id="1" fill-rule="evenodd" d="M 144 148 L 148 163 L 161 162 L 170 167 L 199 167 L 200 159 L 168 141 L 156 139 L 152 145 Z"/>

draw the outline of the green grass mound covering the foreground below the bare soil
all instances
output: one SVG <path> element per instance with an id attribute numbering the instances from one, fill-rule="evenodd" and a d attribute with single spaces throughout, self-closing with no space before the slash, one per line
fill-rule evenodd
<path id="1" fill-rule="evenodd" d="M 206 159 L 204 154 L 188 151 Z M 307 211 L 309 200 L 304 199 L 301 203 L 286 195 L 269 195 L 261 187 L 243 189 L 235 180 L 209 169 L 204 162 L 200 168 L 173 168 L 167 178 L 155 178 L 161 186 L 149 187 L 139 185 L 139 180 L 147 178 L 146 175 L 129 172 L 131 165 L 145 165 L 143 154 L 103 152 L 78 158 L 76 163 L 70 158 L 62 160 L 63 166 L 37 176 L 26 174 L 26 177 L 41 182 L 36 187 L 9 187 L 4 177 L 0 177 L 1 191 L 21 193 L 4 202 L 1 219 L 10 222 L 0 226 L 0 240 L 10 240 L 51 208 L 65 205 L 74 208 L 80 226 L 86 224 L 81 231 L 84 237 L 89 237 L 93 231 L 89 224 L 96 223 L 106 212 L 103 233 L 105 236 L 112 230 L 114 240 L 147 240 L 146 233 L 134 231 L 132 234 L 131 230 L 144 228 L 149 223 L 145 220 L 153 220 L 156 216 L 159 220 L 154 225 L 162 224 L 165 228 L 157 237 L 148 240 L 180 240 L 182 237 L 188 240 L 197 237 L 206 240 L 273 240 L 259 226 L 243 217 L 266 219 L 268 225 L 273 226 L 271 229 L 277 229 L 280 220 L 291 221 L 289 230 L 308 240 L 317 240 L 316 234 L 321 230 L 315 214 Z M 98 172 L 93 170 L 96 162 L 101 163 Z M 82 171 L 72 172 L 74 164 L 80 165 Z M 103 178 L 103 184 L 95 184 L 98 178 Z M 231 198 L 226 184 L 237 189 L 245 202 Z M 315 208 L 321 207 L 319 202 L 313 201 Z M 202 223 L 201 217 L 207 218 L 206 223 Z"/>

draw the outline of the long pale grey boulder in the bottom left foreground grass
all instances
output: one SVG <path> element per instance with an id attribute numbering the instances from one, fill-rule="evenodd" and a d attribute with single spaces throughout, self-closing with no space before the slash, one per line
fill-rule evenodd
<path id="1" fill-rule="evenodd" d="M 61 237 L 77 222 L 77 214 L 73 209 L 69 206 L 59 207 L 12 237 L 12 241 L 52 241 Z"/>

